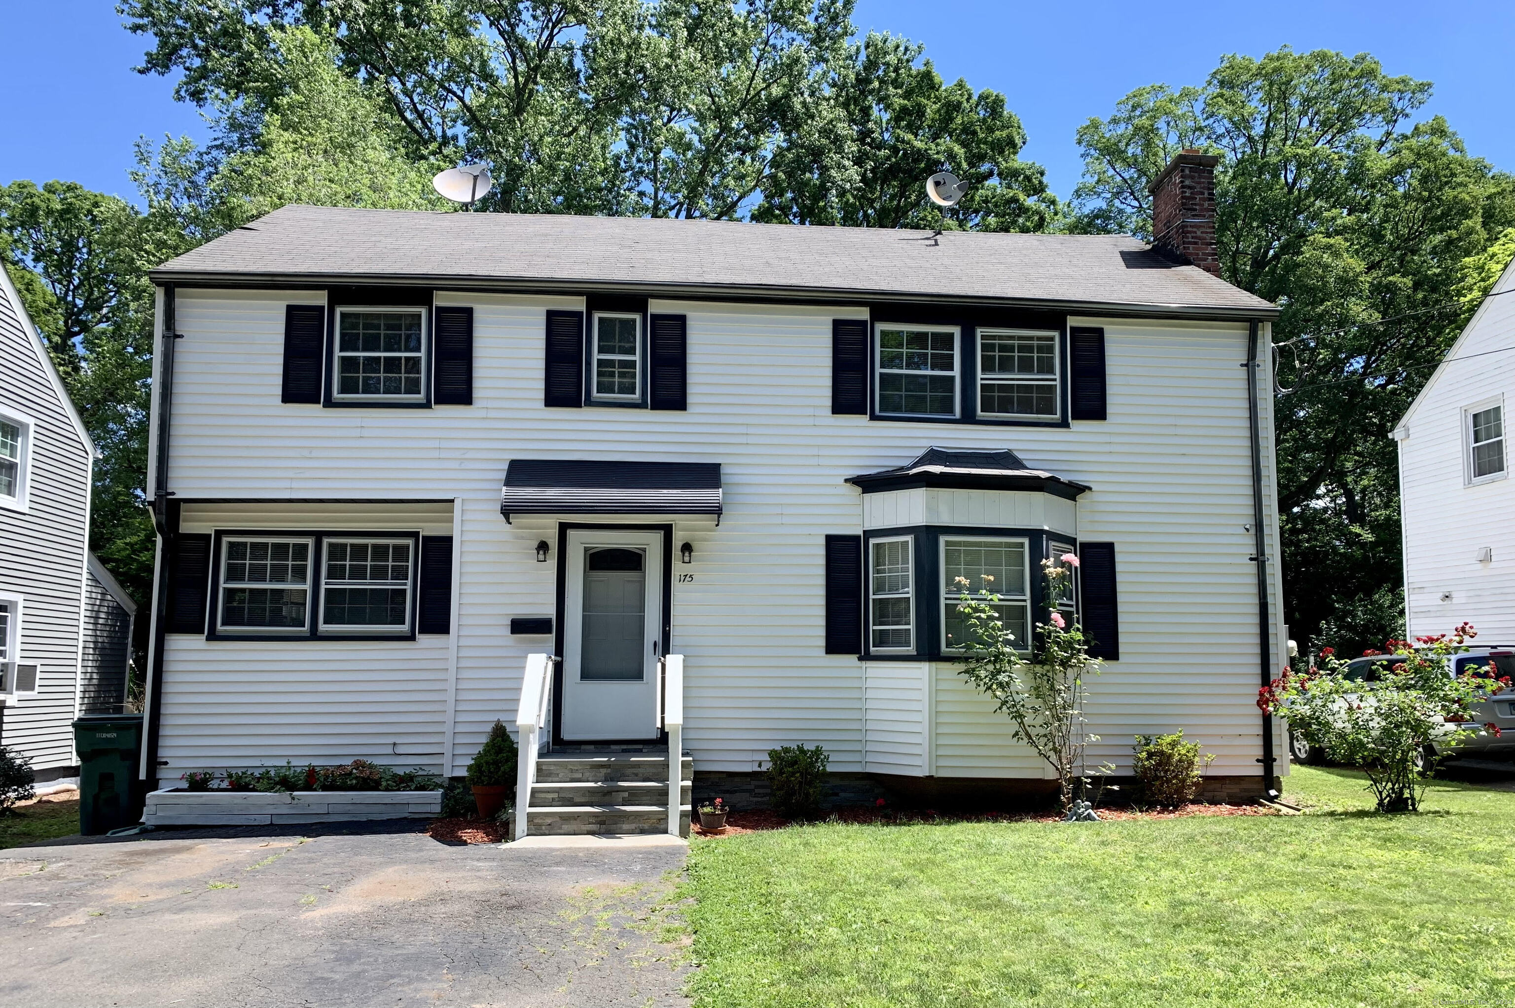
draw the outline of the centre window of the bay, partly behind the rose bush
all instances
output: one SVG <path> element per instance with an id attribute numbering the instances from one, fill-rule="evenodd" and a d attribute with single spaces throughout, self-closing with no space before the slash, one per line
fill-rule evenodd
<path id="1" fill-rule="evenodd" d="M 979 638 L 957 611 L 964 591 L 988 602 L 1017 650 L 1030 650 L 1030 573 L 1026 540 L 942 538 L 942 650 L 971 649 Z M 962 581 L 959 581 L 962 579 Z M 964 587 L 967 581 L 967 587 Z M 988 600 L 988 591 L 998 596 Z"/>

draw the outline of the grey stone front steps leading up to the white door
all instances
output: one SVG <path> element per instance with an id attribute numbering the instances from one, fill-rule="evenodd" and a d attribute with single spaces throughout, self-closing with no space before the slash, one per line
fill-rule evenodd
<path id="1" fill-rule="evenodd" d="M 680 761 L 679 835 L 689 835 L 694 756 Z M 556 749 L 536 759 L 527 835 L 633 835 L 668 832 L 668 750 L 656 747 Z"/>

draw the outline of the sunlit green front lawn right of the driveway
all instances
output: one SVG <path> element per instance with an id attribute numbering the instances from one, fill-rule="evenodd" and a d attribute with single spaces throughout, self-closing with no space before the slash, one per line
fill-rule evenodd
<path id="1" fill-rule="evenodd" d="M 1286 784 L 1307 814 L 695 841 L 695 1005 L 1515 1003 L 1515 794 Z"/>

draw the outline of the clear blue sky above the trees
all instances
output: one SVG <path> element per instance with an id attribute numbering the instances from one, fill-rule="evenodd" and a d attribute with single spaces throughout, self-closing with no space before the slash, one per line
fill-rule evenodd
<path id="1" fill-rule="evenodd" d="M 120 26 L 111 0 L 0 0 L 0 183 L 74 179 L 130 197 L 139 135 L 205 136 L 170 80 L 132 73 L 145 39 Z M 1283 44 L 1368 52 L 1389 73 L 1435 82 L 1429 112 L 1445 115 L 1471 153 L 1515 170 L 1509 0 L 859 0 L 856 21 L 926 42 L 947 79 L 1003 91 L 1030 135 L 1024 156 L 1064 197 L 1079 180 L 1073 135 L 1086 118 L 1144 83 L 1201 83 L 1221 53 Z"/>

